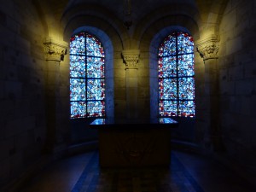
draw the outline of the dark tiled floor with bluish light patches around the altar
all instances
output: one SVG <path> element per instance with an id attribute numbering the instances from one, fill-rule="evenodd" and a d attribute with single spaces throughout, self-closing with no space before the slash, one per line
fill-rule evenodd
<path id="1" fill-rule="evenodd" d="M 255 192 L 244 179 L 198 154 L 172 151 L 166 168 L 101 169 L 98 151 L 60 160 L 20 192 Z"/>

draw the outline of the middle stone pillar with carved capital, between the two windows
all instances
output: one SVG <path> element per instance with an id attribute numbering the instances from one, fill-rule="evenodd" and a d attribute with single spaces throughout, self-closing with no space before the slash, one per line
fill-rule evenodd
<path id="1" fill-rule="evenodd" d="M 139 59 L 139 49 L 126 49 L 122 51 L 125 61 L 125 83 L 126 83 L 126 118 L 137 119 L 137 65 Z"/>

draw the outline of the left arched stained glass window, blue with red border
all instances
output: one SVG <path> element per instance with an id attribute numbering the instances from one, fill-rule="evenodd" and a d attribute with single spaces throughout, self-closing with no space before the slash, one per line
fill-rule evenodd
<path id="1" fill-rule="evenodd" d="M 70 118 L 105 116 L 105 53 L 87 32 L 70 38 Z"/>

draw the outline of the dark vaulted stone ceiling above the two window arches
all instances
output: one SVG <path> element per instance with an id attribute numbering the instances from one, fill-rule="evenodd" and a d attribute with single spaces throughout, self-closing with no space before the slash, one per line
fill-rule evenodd
<path id="1" fill-rule="evenodd" d="M 212 28 L 218 31 L 224 7 L 229 0 L 32 0 L 42 15 L 45 31 L 63 32 L 74 17 L 96 17 L 108 20 L 111 25 L 117 25 L 119 30 L 123 24 L 132 22 L 135 31 L 142 23 L 153 23 L 158 19 L 170 20 L 172 15 L 183 15 L 184 18 L 195 20 L 200 30 Z M 169 19 L 168 19 L 169 18 Z M 175 20 L 175 19 L 174 19 Z M 186 19 L 184 19 L 186 20 Z M 194 21 L 193 21 L 194 22 Z M 146 26 L 145 26 L 146 27 Z M 55 29 L 54 29 L 55 28 Z M 51 30 L 51 32 L 49 32 Z M 140 29 L 141 30 L 141 29 Z M 142 31 L 142 30 L 141 30 Z"/>

